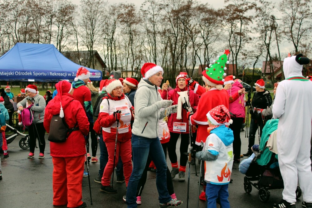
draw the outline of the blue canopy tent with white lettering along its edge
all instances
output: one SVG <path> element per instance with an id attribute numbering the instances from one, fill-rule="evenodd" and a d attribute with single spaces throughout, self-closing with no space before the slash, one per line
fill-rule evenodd
<path id="1" fill-rule="evenodd" d="M 80 67 L 52 44 L 17 43 L 0 57 L 0 81 L 74 80 Z M 101 71 L 85 68 L 91 73 L 90 80 L 102 80 Z"/>

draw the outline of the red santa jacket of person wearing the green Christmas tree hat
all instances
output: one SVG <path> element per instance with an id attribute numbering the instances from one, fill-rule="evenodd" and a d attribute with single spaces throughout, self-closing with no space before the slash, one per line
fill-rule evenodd
<path id="1" fill-rule="evenodd" d="M 201 95 L 196 112 L 194 115 L 190 116 L 191 125 L 198 124 L 195 142 L 197 145 L 200 145 L 201 141 L 205 142 L 209 136 L 207 132 L 208 122 L 206 114 L 209 110 L 222 104 L 229 109 L 229 95 L 225 89 L 218 90 L 212 88 Z"/>

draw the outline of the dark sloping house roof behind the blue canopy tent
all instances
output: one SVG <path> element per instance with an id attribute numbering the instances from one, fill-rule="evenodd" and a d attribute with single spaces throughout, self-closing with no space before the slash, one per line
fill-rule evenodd
<path id="1" fill-rule="evenodd" d="M 79 51 L 79 53 L 78 51 L 63 51 L 62 54 L 66 58 L 72 60 L 73 62 L 77 64 L 79 64 L 79 60 L 80 60 L 81 65 L 90 67 L 89 51 Z M 93 55 L 99 61 L 102 68 L 106 68 L 106 65 L 103 59 L 101 58 L 100 54 L 97 51 L 93 51 Z"/>

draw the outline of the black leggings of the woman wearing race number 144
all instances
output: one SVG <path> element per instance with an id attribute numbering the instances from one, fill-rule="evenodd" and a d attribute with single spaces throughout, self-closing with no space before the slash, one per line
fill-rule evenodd
<path id="1" fill-rule="evenodd" d="M 168 156 L 171 163 L 178 162 L 177 154 L 175 152 L 177 141 L 180 133 L 170 132 L 170 140 L 168 142 Z M 188 133 L 181 134 L 181 144 L 180 144 L 180 166 L 186 166 L 188 161 L 188 155 L 184 154 L 188 152 Z"/>

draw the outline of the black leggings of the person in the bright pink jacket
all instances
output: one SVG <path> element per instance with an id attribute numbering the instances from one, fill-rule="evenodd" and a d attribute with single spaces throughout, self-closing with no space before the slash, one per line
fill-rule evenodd
<path id="1" fill-rule="evenodd" d="M 244 118 L 231 118 L 233 123 L 230 124 L 229 128 L 232 129 L 234 135 L 233 141 L 233 153 L 234 159 L 240 159 L 241 157 L 241 124 Z"/>

